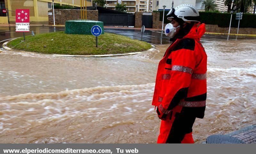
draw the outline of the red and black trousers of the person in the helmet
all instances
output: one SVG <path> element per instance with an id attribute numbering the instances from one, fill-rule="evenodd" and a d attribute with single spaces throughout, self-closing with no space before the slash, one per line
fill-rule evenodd
<path id="1" fill-rule="evenodd" d="M 192 126 L 195 119 L 184 112 L 183 106 L 175 106 L 161 122 L 157 143 L 194 143 Z"/>

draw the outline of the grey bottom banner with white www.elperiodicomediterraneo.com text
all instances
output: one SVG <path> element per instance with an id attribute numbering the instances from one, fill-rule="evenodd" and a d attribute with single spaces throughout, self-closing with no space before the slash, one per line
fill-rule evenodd
<path id="1" fill-rule="evenodd" d="M 255 144 L 0 144 L 0 154 L 244 154 L 255 150 Z"/>

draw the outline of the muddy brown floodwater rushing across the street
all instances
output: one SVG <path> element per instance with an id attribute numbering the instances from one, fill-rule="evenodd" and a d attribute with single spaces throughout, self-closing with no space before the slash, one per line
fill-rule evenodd
<path id="1" fill-rule="evenodd" d="M 203 41 L 208 91 L 197 143 L 255 124 L 255 43 Z M 151 101 L 167 47 L 105 58 L 0 53 L 0 142 L 156 143 Z"/>

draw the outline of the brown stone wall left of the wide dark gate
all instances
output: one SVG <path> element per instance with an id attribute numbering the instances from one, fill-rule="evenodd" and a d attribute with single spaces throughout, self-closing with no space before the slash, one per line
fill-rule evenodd
<path id="1" fill-rule="evenodd" d="M 52 15 L 48 15 L 49 25 L 53 25 L 53 10 Z M 65 25 L 67 20 L 81 20 L 81 10 L 71 10 L 71 9 L 54 9 L 55 14 L 55 25 Z M 85 16 L 85 11 L 84 11 Z M 85 17 L 84 17 L 85 18 Z M 98 21 L 98 11 L 97 10 L 87 10 L 87 20 Z"/>

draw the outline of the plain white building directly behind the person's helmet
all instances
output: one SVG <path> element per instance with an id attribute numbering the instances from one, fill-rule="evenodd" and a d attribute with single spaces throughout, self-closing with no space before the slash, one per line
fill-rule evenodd
<path id="1" fill-rule="evenodd" d="M 204 11 L 204 0 L 173 0 L 173 7 L 177 7 L 181 4 L 192 4 L 196 6 L 198 11 Z M 166 6 L 165 10 L 169 11 L 172 8 L 172 0 L 154 0 L 153 10 L 164 10 L 163 6 Z"/>

